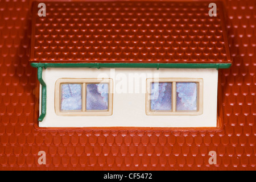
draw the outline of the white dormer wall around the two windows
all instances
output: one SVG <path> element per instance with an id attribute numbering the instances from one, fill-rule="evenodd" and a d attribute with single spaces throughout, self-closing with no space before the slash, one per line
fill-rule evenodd
<path id="1" fill-rule="evenodd" d="M 61 116 L 55 113 L 55 83 L 59 78 L 104 77 L 113 79 L 114 94 L 112 115 Z M 203 78 L 203 114 L 146 115 L 146 78 L 154 77 Z M 46 117 L 42 122 L 39 122 L 39 127 L 217 126 L 217 69 L 47 68 L 43 69 L 43 80 L 47 85 Z M 138 85 L 140 89 L 138 89 Z M 131 87 L 133 87 L 133 89 Z"/>

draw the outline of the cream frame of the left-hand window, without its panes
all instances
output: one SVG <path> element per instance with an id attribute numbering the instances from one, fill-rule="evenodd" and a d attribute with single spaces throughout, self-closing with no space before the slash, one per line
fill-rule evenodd
<path id="1" fill-rule="evenodd" d="M 61 111 L 61 84 L 81 84 L 82 110 Z M 86 84 L 109 84 L 108 110 L 86 110 Z M 112 78 L 59 78 L 55 82 L 55 113 L 63 116 L 112 115 L 113 79 Z"/>

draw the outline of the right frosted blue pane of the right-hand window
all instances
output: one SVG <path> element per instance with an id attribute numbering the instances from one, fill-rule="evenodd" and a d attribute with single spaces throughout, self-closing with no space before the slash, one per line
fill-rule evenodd
<path id="1" fill-rule="evenodd" d="M 196 82 L 177 82 L 177 110 L 197 110 Z"/>

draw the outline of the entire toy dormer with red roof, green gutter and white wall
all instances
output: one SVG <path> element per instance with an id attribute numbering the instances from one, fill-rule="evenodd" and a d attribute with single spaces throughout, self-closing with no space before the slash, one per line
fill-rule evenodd
<path id="1" fill-rule="evenodd" d="M 49 2 L 33 7 L 41 127 L 220 127 L 231 65 L 222 4 Z"/>

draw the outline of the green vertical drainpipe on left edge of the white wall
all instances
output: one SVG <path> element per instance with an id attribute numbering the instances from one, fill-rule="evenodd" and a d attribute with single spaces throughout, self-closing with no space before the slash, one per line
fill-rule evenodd
<path id="1" fill-rule="evenodd" d="M 42 107 L 41 107 L 41 115 L 38 118 L 38 121 L 43 121 L 44 117 L 46 117 L 46 82 L 44 82 L 42 78 L 43 68 L 38 67 L 38 81 L 42 85 Z"/>

